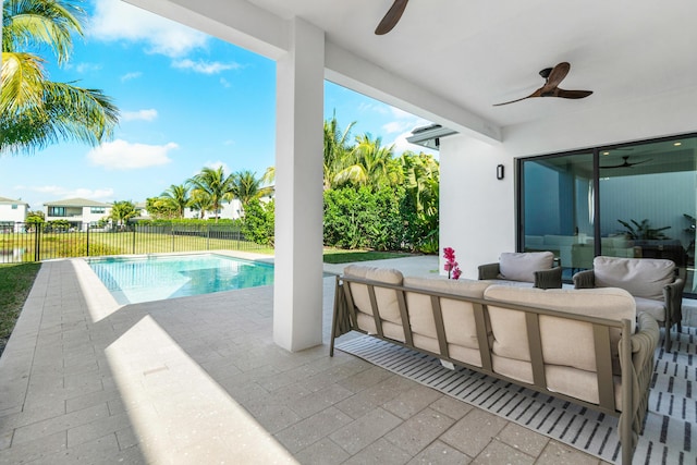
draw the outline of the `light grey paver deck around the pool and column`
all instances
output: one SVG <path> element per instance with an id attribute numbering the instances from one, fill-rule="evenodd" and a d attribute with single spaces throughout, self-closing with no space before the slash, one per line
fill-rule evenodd
<path id="1" fill-rule="evenodd" d="M 372 264 L 432 276 L 438 257 Z M 325 344 L 290 353 L 271 286 L 119 306 L 85 261 L 45 262 L 0 358 L 0 464 L 602 463 L 329 357 L 323 283 Z"/>

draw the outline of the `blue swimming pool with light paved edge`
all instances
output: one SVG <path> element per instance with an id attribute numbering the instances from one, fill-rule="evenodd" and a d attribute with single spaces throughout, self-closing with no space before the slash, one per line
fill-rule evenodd
<path id="1" fill-rule="evenodd" d="M 273 284 L 273 265 L 216 254 L 90 258 L 119 304 Z"/>

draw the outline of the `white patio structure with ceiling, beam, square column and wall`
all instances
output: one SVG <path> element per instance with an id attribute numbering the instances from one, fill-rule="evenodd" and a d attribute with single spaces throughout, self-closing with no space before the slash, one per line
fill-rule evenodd
<path id="1" fill-rule="evenodd" d="M 289 351 L 321 341 L 325 79 L 456 133 L 439 140 L 440 245 L 464 278 L 518 246 L 516 159 L 695 131 L 693 2 L 414 0 L 386 35 L 390 0 L 129 2 L 277 62 L 273 339 Z M 560 88 L 592 95 L 496 106 L 562 62 Z"/>

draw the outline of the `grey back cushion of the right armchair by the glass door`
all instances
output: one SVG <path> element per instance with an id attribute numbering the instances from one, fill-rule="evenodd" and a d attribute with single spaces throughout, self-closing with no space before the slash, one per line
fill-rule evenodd
<path id="1" fill-rule="evenodd" d="M 675 279 L 675 264 L 656 258 L 596 257 L 598 287 L 622 287 L 636 297 L 663 299 L 663 287 Z"/>

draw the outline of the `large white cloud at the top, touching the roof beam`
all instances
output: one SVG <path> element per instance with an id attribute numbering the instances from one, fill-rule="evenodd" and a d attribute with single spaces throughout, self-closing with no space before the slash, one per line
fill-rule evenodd
<path id="1" fill-rule="evenodd" d="M 89 36 L 106 41 L 143 41 L 150 53 L 182 57 L 204 48 L 207 36 L 120 0 L 96 0 Z"/>

